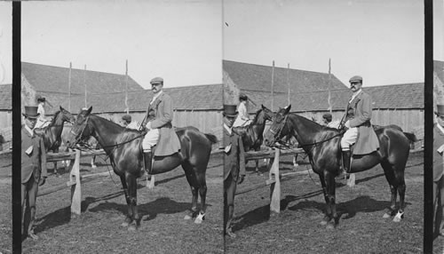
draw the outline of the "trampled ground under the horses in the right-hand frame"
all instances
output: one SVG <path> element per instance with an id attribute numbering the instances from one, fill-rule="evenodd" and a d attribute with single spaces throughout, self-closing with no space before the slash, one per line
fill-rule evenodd
<path id="1" fill-rule="evenodd" d="M 382 218 L 390 205 L 390 189 L 383 169 L 377 166 L 356 174 L 356 186 L 337 180 L 337 210 L 341 214 L 334 230 L 321 226 L 325 201 L 317 175 L 305 171 L 281 182 L 281 213 L 270 217 L 269 187 L 258 187 L 267 179 L 249 163 L 247 178 L 234 200 L 234 239 L 226 238 L 226 253 L 422 253 L 424 214 L 423 153 L 409 156 L 406 169 L 406 203 L 400 223 Z M 282 162 L 283 161 L 283 162 Z M 293 171 L 290 158 L 281 159 L 281 172 Z M 265 170 L 265 168 L 261 168 Z M 243 193 L 242 193 L 243 192 Z M 442 253 L 443 242 L 435 242 Z"/>

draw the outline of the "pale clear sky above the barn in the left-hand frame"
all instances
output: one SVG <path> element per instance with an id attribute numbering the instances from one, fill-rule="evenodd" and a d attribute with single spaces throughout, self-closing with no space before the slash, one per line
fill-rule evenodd
<path id="1" fill-rule="evenodd" d="M 222 83 L 222 2 L 21 3 L 22 61 L 125 74 L 145 88 Z"/>

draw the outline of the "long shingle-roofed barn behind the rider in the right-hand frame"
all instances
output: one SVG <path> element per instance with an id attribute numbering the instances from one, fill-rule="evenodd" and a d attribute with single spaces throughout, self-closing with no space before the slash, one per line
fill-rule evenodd
<path id="1" fill-rule="evenodd" d="M 351 91 L 333 74 L 274 67 L 274 96 L 271 96 L 272 68 L 224 60 L 224 78 L 231 96 L 236 90 L 250 98 L 250 114 L 263 104 L 287 107 L 308 118 L 321 120 L 331 109 L 334 119 L 344 115 Z M 289 83 L 289 85 L 288 85 Z M 401 83 L 366 87 L 373 99 L 375 124 L 398 124 L 405 131 L 424 125 L 424 83 Z"/>

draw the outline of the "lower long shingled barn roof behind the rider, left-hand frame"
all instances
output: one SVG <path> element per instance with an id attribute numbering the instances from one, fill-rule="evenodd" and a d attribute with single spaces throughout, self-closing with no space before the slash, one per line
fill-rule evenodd
<path id="1" fill-rule="evenodd" d="M 187 87 L 164 88 L 173 100 L 176 110 L 221 110 L 222 84 L 205 84 Z M 59 110 L 59 106 L 68 109 L 66 93 L 42 92 L 44 97 L 52 104 L 47 114 L 51 115 Z M 149 90 L 129 91 L 128 106 L 130 111 L 145 111 L 153 92 Z M 92 106 L 96 113 L 123 112 L 125 110 L 125 92 L 108 94 L 87 94 L 87 105 Z M 71 113 L 77 113 L 84 107 L 84 95 L 71 96 Z"/>

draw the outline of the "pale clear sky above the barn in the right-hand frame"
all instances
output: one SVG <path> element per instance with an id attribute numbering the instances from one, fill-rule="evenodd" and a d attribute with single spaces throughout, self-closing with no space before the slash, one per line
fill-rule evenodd
<path id="1" fill-rule="evenodd" d="M 225 0 L 224 21 L 225 60 L 328 73 L 331 59 L 345 85 L 424 82 L 421 0 Z"/>

